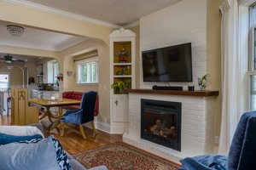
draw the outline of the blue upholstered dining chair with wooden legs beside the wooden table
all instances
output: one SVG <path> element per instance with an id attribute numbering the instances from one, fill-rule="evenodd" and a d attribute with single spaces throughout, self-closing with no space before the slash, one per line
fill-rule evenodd
<path id="1" fill-rule="evenodd" d="M 91 127 L 96 135 L 96 129 L 94 125 L 94 109 L 96 105 L 97 93 L 94 91 L 85 92 L 82 97 L 80 109 L 66 111 L 61 117 L 61 136 L 64 134 L 64 123 L 71 123 L 79 126 L 79 131 L 82 137 L 86 139 L 84 135 L 84 129 L 82 124 L 85 122 L 91 122 Z"/>

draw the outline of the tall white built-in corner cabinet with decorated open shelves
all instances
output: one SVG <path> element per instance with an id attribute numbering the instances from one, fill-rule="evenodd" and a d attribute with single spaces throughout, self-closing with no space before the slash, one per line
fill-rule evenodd
<path id="1" fill-rule="evenodd" d="M 124 28 L 109 35 L 110 126 L 121 127 L 113 133 L 123 133 L 128 122 L 128 90 L 135 88 L 135 37 L 133 31 Z"/>

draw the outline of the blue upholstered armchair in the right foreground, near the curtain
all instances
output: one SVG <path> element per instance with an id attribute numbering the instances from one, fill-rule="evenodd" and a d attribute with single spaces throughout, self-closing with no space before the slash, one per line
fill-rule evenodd
<path id="1" fill-rule="evenodd" d="M 244 113 L 236 127 L 228 156 L 187 157 L 180 170 L 255 170 L 256 111 Z"/>

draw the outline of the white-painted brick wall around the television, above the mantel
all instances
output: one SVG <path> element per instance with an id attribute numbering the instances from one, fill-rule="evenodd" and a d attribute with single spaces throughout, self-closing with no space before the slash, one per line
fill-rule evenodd
<path id="1" fill-rule="evenodd" d="M 140 20 L 140 51 L 162 48 L 192 42 L 193 81 L 208 72 L 207 59 L 207 1 L 183 0 Z M 140 53 L 141 54 L 141 53 Z M 143 82 L 142 57 L 140 57 L 140 88 L 164 85 L 157 82 Z M 170 83 L 187 88 L 188 83 Z"/>

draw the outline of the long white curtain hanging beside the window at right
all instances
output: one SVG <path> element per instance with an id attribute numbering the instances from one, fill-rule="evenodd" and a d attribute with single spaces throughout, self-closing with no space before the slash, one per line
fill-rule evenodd
<path id="1" fill-rule="evenodd" d="M 238 112 L 238 4 L 225 0 L 219 7 L 221 23 L 222 111 L 218 153 L 226 155 L 240 118 Z"/>

